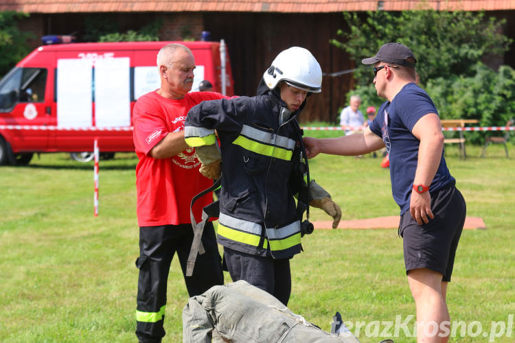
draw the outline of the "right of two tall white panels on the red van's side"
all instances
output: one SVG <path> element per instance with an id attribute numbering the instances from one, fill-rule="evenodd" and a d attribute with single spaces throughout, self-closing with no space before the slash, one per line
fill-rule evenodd
<path id="1" fill-rule="evenodd" d="M 95 126 L 130 126 L 130 59 L 95 61 Z"/>

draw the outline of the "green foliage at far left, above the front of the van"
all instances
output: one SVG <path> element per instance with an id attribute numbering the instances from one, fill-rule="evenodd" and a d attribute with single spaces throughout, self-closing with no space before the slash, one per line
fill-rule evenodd
<path id="1" fill-rule="evenodd" d="M 0 12 L 0 75 L 5 75 L 30 52 L 27 40 L 34 35 L 21 32 L 18 27 L 19 20 L 27 16 L 25 13 Z"/>

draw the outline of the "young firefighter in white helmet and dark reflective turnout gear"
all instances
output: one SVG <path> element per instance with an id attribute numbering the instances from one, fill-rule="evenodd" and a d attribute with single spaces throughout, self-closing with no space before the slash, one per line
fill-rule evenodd
<path id="1" fill-rule="evenodd" d="M 310 51 L 290 47 L 266 69 L 257 96 L 202 102 L 185 121 L 185 141 L 196 147 L 201 173 L 216 178 L 221 169 L 217 239 L 231 279 L 264 289 L 284 305 L 291 292 L 289 259 L 302 250 L 308 204 L 331 215 L 333 228 L 341 218 L 330 195 L 314 181 L 308 187 L 305 178 L 297 117 L 306 97 L 321 92 L 321 82 Z"/>

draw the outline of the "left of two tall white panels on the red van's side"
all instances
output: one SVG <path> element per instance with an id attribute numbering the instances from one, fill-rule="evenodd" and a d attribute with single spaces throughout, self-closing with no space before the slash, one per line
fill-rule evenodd
<path id="1" fill-rule="evenodd" d="M 91 82 L 93 61 L 70 58 L 57 61 L 57 126 L 89 128 L 93 123 Z"/>

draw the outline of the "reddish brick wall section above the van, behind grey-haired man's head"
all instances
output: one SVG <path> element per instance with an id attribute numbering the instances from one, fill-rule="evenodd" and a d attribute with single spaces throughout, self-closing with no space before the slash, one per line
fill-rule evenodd
<path id="1" fill-rule="evenodd" d="M 200 40 L 204 23 L 200 13 L 180 12 L 162 14 L 160 40 Z"/>

